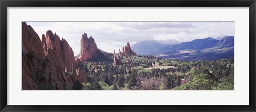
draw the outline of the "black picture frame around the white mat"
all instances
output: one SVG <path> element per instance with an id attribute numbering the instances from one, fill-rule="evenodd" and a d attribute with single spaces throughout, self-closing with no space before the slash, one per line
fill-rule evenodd
<path id="1" fill-rule="evenodd" d="M 255 111 L 255 0 L 0 0 L 1 111 Z M 7 104 L 7 7 L 250 7 L 249 106 L 10 106 Z"/>

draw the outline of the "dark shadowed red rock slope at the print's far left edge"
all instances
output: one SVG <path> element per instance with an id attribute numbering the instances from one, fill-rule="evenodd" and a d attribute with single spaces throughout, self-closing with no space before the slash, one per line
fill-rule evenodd
<path id="1" fill-rule="evenodd" d="M 42 64 L 44 59 L 42 46 L 33 28 L 22 22 L 22 90 L 38 89 L 32 79 L 36 78 L 36 74 L 42 74 L 43 68 L 38 65 Z"/>

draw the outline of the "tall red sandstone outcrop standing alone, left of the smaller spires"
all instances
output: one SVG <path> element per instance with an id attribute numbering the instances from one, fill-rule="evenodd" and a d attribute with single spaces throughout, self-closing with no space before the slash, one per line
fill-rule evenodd
<path id="1" fill-rule="evenodd" d="M 84 33 L 81 38 L 81 49 L 78 58 L 84 62 L 88 59 L 92 59 L 97 55 L 98 47 L 92 37 L 87 38 L 87 34 Z"/>

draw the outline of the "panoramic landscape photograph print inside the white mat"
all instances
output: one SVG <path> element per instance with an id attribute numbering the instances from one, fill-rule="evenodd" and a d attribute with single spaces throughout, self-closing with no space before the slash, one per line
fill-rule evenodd
<path id="1" fill-rule="evenodd" d="M 22 90 L 234 90 L 235 22 L 22 22 Z"/>

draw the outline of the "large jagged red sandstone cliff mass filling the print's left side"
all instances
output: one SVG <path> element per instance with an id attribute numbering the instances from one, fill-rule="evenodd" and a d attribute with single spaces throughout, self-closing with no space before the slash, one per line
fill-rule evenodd
<path id="1" fill-rule="evenodd" d="M 71 90 L 75 81 L 87 82 L 82 71 L 77 75 L 76 65 L 65 39 L 49 30 L 41 42 L 33 28 L 22 22 L 22 90 Z"/>

